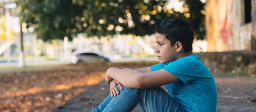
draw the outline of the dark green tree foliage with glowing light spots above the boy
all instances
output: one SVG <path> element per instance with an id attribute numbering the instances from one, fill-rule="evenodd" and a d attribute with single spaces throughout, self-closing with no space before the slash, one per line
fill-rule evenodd
<path id="1" fill-rule="evenodd" d="M 204 15 L 200 13 L 204 4 L 200 0 L 186 0 L 185 3 L 183 7 L 187 12 L 167 10 L 167 0 L 148 0 L 146 3 L 144 0 L 17 1 L 20 19 L 33 25 L 37 37 L 43 40 L 74 37 L 79 33 L 99 37 L 116 33 L 144 36 L 154 33 L 155 21 L 172 18 L 187 20 L 197 33 L 199 24 L 204 21 Z"/>

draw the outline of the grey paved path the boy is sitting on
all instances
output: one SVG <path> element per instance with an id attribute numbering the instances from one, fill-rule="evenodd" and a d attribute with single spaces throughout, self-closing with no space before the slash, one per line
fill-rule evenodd
<path id="1" fill-rule="evenodd" d="M 256 112 L 256 77 L 214 77 L 217 86 L 217 112 Z M 165 88 L 164 88 L 165 89 Z M 207 90 L 206 90 L 207 91 Z M 102 81 L 53 112 L 91 112 L 108 96 L 109 85 Z M 132 112 L 141 112 L 137 106 Z"/>

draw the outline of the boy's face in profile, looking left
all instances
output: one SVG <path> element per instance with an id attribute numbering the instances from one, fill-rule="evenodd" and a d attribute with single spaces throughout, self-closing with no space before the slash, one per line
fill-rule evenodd
<path id="1" fill-rule="evenodd" d="M 160 63 L 165 64 L 177 59 L 176 46 L 171 47 L 169 40 L 165 38 L 164 35 L 156 33 L 156 49 L 157 58 L 160 60 Z"/>

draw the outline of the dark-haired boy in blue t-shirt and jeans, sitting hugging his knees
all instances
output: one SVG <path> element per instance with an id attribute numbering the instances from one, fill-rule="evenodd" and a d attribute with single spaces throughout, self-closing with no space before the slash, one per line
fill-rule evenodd
<path id="1" fill-rule="evenodd" d="M 138 104 L 143 112 L 216 112 L 216 85 L 192 53 L 194 32 L 188 22 L 163 20 L 154 29 L 160 63 L 139 69 L 109 68 L 105 79 L 111 94 L 92 111 L 130 112 Z"/>

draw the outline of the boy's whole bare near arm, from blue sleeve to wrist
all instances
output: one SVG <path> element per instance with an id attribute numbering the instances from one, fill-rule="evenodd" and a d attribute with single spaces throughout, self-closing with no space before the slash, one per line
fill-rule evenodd
<path id="1" fill-rule="evenodd" d="M 115 79 L 126 87 L 136 89 L 151 88 L 180 81 L 179 78 L 164 69 L 142 73 L 133 69 L 109 68 L 105 79 L 108 84 L 112 79 Z"/>

